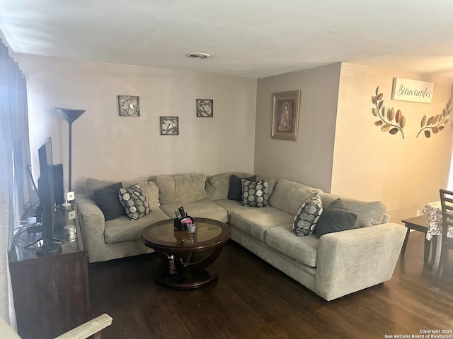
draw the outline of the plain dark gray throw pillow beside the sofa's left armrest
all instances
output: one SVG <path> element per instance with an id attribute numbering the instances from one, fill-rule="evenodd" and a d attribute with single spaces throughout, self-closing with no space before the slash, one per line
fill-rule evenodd
<path id="1" fill-rule="evenodd" d="M 98 208 L 102 210 L 102 213 L 104 213 L 105 221 L 113 220 L 125 214 L 125 208 L 122 207 L 118 198 L 118 191 L 120 189 L 122 189 L 122 184 L 117 182 L 116 184 L 94 191 L 94 201 Z"/>

